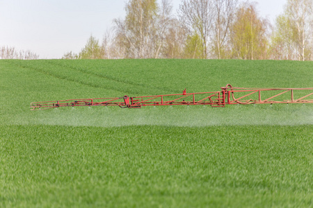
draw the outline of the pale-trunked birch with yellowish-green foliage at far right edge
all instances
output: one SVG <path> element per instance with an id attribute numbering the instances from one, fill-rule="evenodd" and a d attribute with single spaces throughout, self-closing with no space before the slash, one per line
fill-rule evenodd
<path id="1" fill-rule="evenodd" d="M 313 1 L 288 0 L 275 21 L 271 37 L 271 58 L 312 60 Z"/>

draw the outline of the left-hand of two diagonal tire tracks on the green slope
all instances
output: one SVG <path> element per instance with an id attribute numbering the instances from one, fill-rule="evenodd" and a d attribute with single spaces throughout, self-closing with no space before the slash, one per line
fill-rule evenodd
<path id="1" fill-rule="evenodd" d="M 58 79 L 61 79 L 61 80 L 67 80 L 69 82 L 73 82 L 73 83 L 78 83 L 80 85 L 86 85 L 88 87 L 95 87 L 95 88 L 100 88 L 100 89 L 109 89 L 109 90 L 113 90 L 115 92 L 120 92 L 120 93 L 130 93 L 130 92 L 127 92 L 127 90 L 125 91 L 120 91 L 119 89 L 115 89 L 114 87 L 103 87 L 103 86 L 99 86 L 99 85 L 93 85 L 92 83 L 85 83 L 83 81 L 80 81 L 80 80 L 76 80 L 76 79 L 70 79 L 70 78 L 67 78 L 65 76 L 60 76 L 56 73 L 50 73 L 49 71 L 45 70 L 45 69 L 40 69 L 38 67 L 34 67 L 33 65 L 32 66 L 26 66 L 26 65 L 23 65 L 23 64 L 16 64 L 17 67 L 22 67 L 24 69 L 31 69 L 33 71 L 37 71 L 39 73 L 43 73 L 47 76 L 51 76 L 51 77 L 54 77 L 54 78 L 58 78 Z"/>

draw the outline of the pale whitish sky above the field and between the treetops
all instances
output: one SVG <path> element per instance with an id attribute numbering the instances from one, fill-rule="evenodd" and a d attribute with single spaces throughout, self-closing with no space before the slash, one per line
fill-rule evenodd
<path id="1" fill-rule="evenodd" d="M 125 17 L 128 0 L 0 0 L 0 46 L 31 50 L 40 58 L 79 53 L 88 37 L 99 42 L 114 18 Z M 172 0 L 173 15 L 181 0 Z M 272 23 L 287 0 L 255 0 Z"/>

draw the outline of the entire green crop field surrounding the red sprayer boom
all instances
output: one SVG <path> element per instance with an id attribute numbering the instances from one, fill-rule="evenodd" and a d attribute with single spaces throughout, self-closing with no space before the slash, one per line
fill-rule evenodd
<path id="1" fill-rule="evenodd" d="M 313 105 L 33 101 L 313 87 L 313 62 L 0 60 L 0 207 L 312 207 Z"/>

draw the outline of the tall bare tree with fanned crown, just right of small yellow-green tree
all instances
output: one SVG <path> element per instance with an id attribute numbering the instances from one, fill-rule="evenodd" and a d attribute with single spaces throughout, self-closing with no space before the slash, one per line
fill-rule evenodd
<path id="1" fill-rule="evenodd" d="M 208 58 L 208 43 L 213 26 L 214 7 L 210 0 L 183 0 L 179 6 L 179 20 L 191 34 L 198 34 L 202 44 L 202 58 Z"/>

